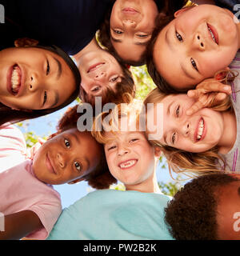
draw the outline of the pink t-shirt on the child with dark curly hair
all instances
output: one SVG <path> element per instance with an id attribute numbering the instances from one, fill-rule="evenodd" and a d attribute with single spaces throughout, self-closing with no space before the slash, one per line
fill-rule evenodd
<path id="1" fill-rule="evenodd" d="M 13 128 L 13 130 L 16 129 L 16 127 Z M 16 135 L 18 132 L 14 134 Z M 1 140 L 2 138 L 0 138 L 0 147 Z M 10 141 L 13 142 L 12 149 L 16 153 L 16 147 L 14 147 L 16 138 L 10 136 L 9 145 Z M 19 146 L 20 148 L 21 146 Z M 10 147 L 7 148 L 8 154 L 10 154 L 9 149 Z M 3 155 L 2 149 L 1 152 Z M 20 154 L 22 154 L 21 152 L 19 150 Z M 13 158 L 11 159 L 13 160 Z M 1 161 L 0 158 L 0 164 Z M 22 163 L 14 165 L 8 170 L 0 170 L 0 212 L 8 215 L 22 210 L 34 211 L 44 226 L 41 230 L 34 231 L 27 236 L 27 238 L 34 239 L 46 239 L 62 212 L 60 194 L 53 189 L 53 186 L 35 178 L 30 159 L 23 159 Z"/>

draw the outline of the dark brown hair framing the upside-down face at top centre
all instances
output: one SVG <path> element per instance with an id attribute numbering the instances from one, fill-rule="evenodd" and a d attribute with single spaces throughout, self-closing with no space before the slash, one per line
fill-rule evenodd
<path id="1" fill-rule="evenodd" d="M 114 46 L 111 43 L 111 36 L 110 36 L 110 15 L 112 12 L 112 8 L 114 6 L 114 2 L 112 1 L 110 3 L 110 8 L 105 16 L 105 20 L 102 23 L 102 26 L 99 29 L 99 42 L 101 42 L 102 46 L 105 46 L 111 54 L 114 55 L 115 58 L 118 58 L 122 62 L 126 62 L 130 66 L 142 66 L 146 63 L 146 52 L 142 54 L 142 56 L 139 56 L 138 62 L 130 61 L 130 60 L 124 60 L 122 59 L 116 50 L 114 50 Z M 159 1 L 154 0 L 156 2 L 156 5 L 158 6 L 158 12 L 160 15 L 158 15 L 158 18 L 162 18 L 164 15 L 162 15 L 162 12 L 166 15 L 173 15 L 174 12 L 178 9 L 180 9 L 182 6 L 185 6 L 188 2 L 187 0 L 167 0 L 167 1 Z M 158 19 L 157 18 L 157 19 Z"/>

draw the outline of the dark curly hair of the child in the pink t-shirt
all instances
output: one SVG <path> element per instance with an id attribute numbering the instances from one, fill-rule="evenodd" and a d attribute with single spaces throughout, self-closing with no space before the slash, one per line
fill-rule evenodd
<path id="1" fill-rule="evenodd" d="M 58 122 L 57 133 L 60 134 L 65 130 L 69 130 L 71 128 L 77 128 L 78 118 L 80 118 L 81 114 L 77 112 L 78 105 L 74 107 L 70 107 L 66 110 L 66 113 L 62 116 L 62 118 Z M 80 131 L 78 131 L 80 132 Z M 89 131 L 86 131 L 90 133 Z M 53 136 L 54 134 L 52 134 Z M 51 136 L 50 136 L 51 138 Z M 110 174 L 108 169 L 106 158 L 104 154 L 103 146 L 101 146 L 101 159 L 98 166 L 90 173 L 84 176 L 86 182 L 95 189 L 108 189 L 111 184 L 117 182 L 117 180 Z"/>

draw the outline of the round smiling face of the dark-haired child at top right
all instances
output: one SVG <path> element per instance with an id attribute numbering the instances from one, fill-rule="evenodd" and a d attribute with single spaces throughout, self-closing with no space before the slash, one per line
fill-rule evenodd
<path id="1" fill-rule="evenodd" d="M 174 88 L 193 87 L 232 62 L 239 48 L 239 25 L 234 14 L 218 6 L 178 10 L 158 34 L 155 66 Z"/>

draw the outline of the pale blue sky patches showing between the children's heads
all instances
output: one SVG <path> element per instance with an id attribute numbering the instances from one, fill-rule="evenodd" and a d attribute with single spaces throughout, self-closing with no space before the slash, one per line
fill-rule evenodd
<path id="1" fill-rule="evenodd" d="M 70 104 L 70 106 L 74 106 L 76 102 Z M 33 131 L 34 134 L 37 134 L 39 137 L 46 136 L 55 132 L 55 127 L 58 123 L 58 120 L 61 118 L 62 114 L 66 111 L 67 107 L 58 110 L 53 114 L 49 114 L 42 118 L 36 118 L 33 120 L 28 120 L 24 123 L 24 128 L 20 129 L 22 132 Z M 161 169 L 161 166 L 158 166 L 157 170 L 158 181 L 169 182 L 173 181 L 170 177 L 169 171 L 167 168 Z M 63 184 L 54 186 L 55 190 L 61 194 L 62 198 L 62 207 L 70 206 L 72 203 L 77 201 L 79 198 L 82 198 L 91 190 L 93 190 L 90 186 L 87 185 L 87 182 L 79 182 L 74 185 Z"/>

